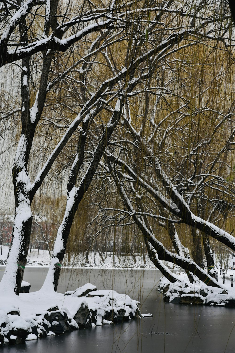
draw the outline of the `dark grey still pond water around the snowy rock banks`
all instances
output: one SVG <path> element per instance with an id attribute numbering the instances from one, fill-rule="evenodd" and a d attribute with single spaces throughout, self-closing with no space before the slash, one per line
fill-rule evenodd
<path id="1" fill-rule="evenodd" d="M 32 290 L 37 290 L 46 271 L 29 268 L 25 270 L 24 280 L 31 283 Z M 159 277 L 158 270 L 63 269 L 59 292 L 87 282 L 98 289 L 113 288 L 139 300 L 141 312 L 150 312 L 153 317 L 28 341 L 3 350 L 11 353 L 234 353 L 235 310 L 164 303 L 157 291 Z"/>

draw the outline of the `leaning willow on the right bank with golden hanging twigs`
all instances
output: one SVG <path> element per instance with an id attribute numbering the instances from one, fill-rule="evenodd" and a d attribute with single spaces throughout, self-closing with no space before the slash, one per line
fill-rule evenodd
<path id="1" fill-rule="evenodd" d="M 163 260 L 217 286 L 202 263 L 190 259 L 197 262 L 196 241 L 191 254 L 187 248 L 191 238 L 198 237 L 209 270 L 214 265 L 209 237 L 235 250 L 226 222 L 234 216 L 235 201 L 234 66 L 226 41 L 201 38 L 195 48 L 159 60 L 158 76 L 151 76 L 141 100 L 128 97 L 122 137 L 104 153 L 104 173 L 112 175 L 125 203 L 119 222 L 135 222 L 152 261 L 171 281 L 176 278 Z M 112 223 L 115 207 L 104 212 Z M 159 227 L 167 230 L 176 253 L 159 241 Z M 186 233 L 182 241 L 178 232 Z"/>

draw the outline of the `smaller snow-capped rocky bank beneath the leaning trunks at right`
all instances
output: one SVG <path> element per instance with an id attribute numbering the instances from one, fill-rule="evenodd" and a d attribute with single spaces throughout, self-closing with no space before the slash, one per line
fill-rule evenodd
<path id="1" fill-rule="evenodd" d="M 165 277 L 160 279 L 159 291 L 164 301 L 173 304 L 221 305 L 235 307 L 235 294 L 226 287 L 216 288 L 205 285 L 194 277 L 190 283 L 186 273 L 178 273 L 179 280 L 170 283 Z"/>

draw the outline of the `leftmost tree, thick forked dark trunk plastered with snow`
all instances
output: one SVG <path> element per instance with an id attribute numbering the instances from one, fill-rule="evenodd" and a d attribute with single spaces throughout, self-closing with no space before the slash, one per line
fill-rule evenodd
<path id="1" fill-rule="evenodd" d="M 0 285 L 2 288 L 8 288 L 9 291 L 14 290 L 16 293 L 19 293 L 26 264 L 32 226 L 31 203 L 35 193 L 42 185 L 59 153 L 77 130 L 78 125 L 84 120 L 84 130 L 88 130 L 94 116 L 99 113 L 102 99 L 104 100 L 106 97 L 105 91 L 112 87 L 115 81 L 120 80 L 127 74 L 125 72 L 122 75 L 116 75 L 117 77 L 113 77 L 113 80 L 110 80 L 110 82 L 104 81 L 103 84 L 101 80 L 96 86 L 95 93 L 93 92 L 89 96 L 88 92 L 88 101 L 84 101 L 86 95 L 83 95 L 83 98 L 77 102 L 76 108 L 79 109 L 79 112 L 76 114 L 76 110 L 73 111 L 73 115 L 76 115 L 76 117 L 70 119 L 69 123 L 66 121 L 65 125 L 59 125 L 57 124 L 58 118 L 51 123 L 52 126 L 58 127 L 57 140 L 59 142 L 55 144 L 52 153 L 49 156 L 47 155 L 48 158 L 45 163 L 37 168 L 38 174 L 31 183 L 28 163 L 31 156 L 33 158 L 33 142 L 36 139 L 36 134 L 40 132 L 39 125 L 45 120 L 50 121 L 53 114 L 53 109 L 52 112 L 45 109 L 45 105 L 48 104 L 48 96 L 56 91 L 56 85 L 65 76 L 68 76 L 72 70 L 75 70 L 79 64 L 81 70 L 83 70 L 80 72 L 79 78 L 82 85 L 85 74 L 91 70 L 91 62 L 95 61 L 97 53 L 108 47 L 108 43 L 105 42 L 103 36 L 114 28 L 116 20 L 116 16 L 112 17 L 112 13 L 117 11 L 115 2 L 104 7 L 103 10 L 99 8 L 96 11 L 94 8 L 90 8 L 89 4 L 82 7 L 76 5 L 77 16 L 75 17 L 72 14 L 74 8 L 70 13 L 72 4 L 68 5 L 66 7 L 66 4 L 64 4 L 65 8 L 60 24 L 57 22 L 57 15 L 60 14 L 58 1 L 25 1 L 24 3 L 19 1 L 18 3 L 2 3 L 1 5 L 1 29 L 3 31 L 0 41 L 1 66 L 9 65 L 9 63 L 21 59 L 20 65 L 16 63 L 20 68 L 18 76 L 21 90 L 20 118 L 22 127 L 12 172 L 15 221 L 8 262 Z M 109 16 L 111 19 L 109 19 Z M 104 32 L 103 29 L 105 29 Z M 92 39 L 94 33 L 96 34 L 95 40 Z M 86 50 L 88 41 L 86 36 L 91 38 L 90 50 Z M 64 39 L 62 39 L 63 37 Z M 83 40 L 83 38 L 86 40 Z M 80 51 L 78 50 L 77 58 L 75 60 L 75 56 L 73 56 L 70 61 L 71 46 L 78 41 L 80 41 L 79 44 L 82 48 L 80 49 L 78 44 L 77 48 Z M 110 41 L 115 42 L 115 36 Z M 63 52 L 68 50 L 68 53 L 70 53 L 69 56 L 68 53 L 65 53 L 66 62 L 63 62 L 62 59 L 59 63 L 60 65 L 63 63 L 60 72 L 56 71 L 58 50 Z M 89 62 L 91 56 L 93 58 Z M 119 78 L 119 76 L 122 77 Z M 85 87 L 83 87 L 84 92 Z M 113 98 L 115 98 L 115 94 Z M 46 113 L 46 118 L 42 116 L 43 112 Z M 115 114 L 114 117 L 116 118 Z M 111 123 L 115 123 L 115 121 L 111 120 Z M 61 133 L 61 129 L 65 131 L 64 134 Z M 112 127 L 110 130 L 112 130 Z M 42 142 L 42 139 L 39 139 L 40 142 Z M 79 146 L 80 144 L 78 144 L 78 149 Z M 87 187 L 87 184 L 89 184 L 88 180 L 85 187 Z"/>

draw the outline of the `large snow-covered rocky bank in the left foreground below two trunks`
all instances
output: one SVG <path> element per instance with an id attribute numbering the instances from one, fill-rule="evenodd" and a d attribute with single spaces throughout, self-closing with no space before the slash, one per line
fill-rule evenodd
<path id="1" fill-rule="evenodd" d="M 65 294 L 38 291 L 1 296 L 0 345 L 142 317 L 139 302 L 90 283 Z"/>

